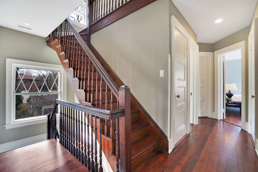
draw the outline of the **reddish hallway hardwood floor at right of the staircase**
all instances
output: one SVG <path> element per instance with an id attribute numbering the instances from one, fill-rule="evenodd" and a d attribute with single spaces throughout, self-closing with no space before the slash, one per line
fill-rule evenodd
<path id="1" fill-rule="evenodd" d="M 157 152 L 135 171 L 258 171 L 258 157 L 245 130 L 211 118 L 199 118 L 190 128 L 169 155 Z"/>

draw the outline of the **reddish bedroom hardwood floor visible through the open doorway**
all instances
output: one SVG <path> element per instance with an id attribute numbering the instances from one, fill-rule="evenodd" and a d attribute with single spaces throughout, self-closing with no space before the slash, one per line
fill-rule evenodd
<path id="1" fill-rule="evenodd" d="M 232 122 L 233 124 L 241 126 L 241 114 L 239 108 L 226 107 L 225 120 Z"/>

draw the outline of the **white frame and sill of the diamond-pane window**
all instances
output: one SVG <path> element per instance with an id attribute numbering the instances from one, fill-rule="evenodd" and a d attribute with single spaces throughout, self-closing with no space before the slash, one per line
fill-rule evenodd
<path id="1" fill-rule="evenodd" d="M 6 123 L 5 129 L 17 128 L 22 126 L 40 124 L 46 122 L 45 116 L 24 118 L 15 120 L 15 70 L 20 68 L 45 69 L 59 71 L 59 91 L 53 94 L 59 94 L 59 99 L 66 100 L 66 83 L 67 76 L 62 65 L 31 62 L 24 60 L 6 59 Z M 50 94 L 47 93 L 31 93 L 31 94 Z M 59 119 L 59 113 L 57 114 Z"/>

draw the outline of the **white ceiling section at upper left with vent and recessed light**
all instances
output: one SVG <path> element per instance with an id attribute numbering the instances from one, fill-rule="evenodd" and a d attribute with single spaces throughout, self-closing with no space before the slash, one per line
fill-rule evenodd
<path id="1" fill-rule="evenodd" d="M 0 26 L 47 37 L 84 0 L 0 0 Z M 20 28 L 30 23 L 32 30 Z"/>

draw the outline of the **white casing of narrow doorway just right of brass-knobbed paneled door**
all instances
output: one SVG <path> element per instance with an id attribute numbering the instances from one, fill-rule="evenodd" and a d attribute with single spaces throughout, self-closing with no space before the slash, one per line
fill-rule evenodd
<path id="1" fill-rule="evenodd" d="M 193 40 L 191 36 L 189 36 L 189 54 L 190 54 L 190 49 L 194 50 L 193 54 L 193 83 L 192 83 L 192 100 L 193 100 L 193 124 L 197 125 L 198 124 L 198 61 L 199 61 L 199 46 Z M 189 59 L 190 61 L 190 59 Z M 190 78 L 189 78 L 190 80 Z M 190 82 L 189 82 L 190 83 Z M 191 115 L 191 114 L 190 114 Z M 190 117 L 188 118 L 190 120 Z M 190 126 L 189 126 L 190 127 Z M 190 128 L 188 128 L 188 131 L 190 132 Z M 189 133 L 188 132 L 188 133 Z"/>

